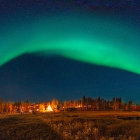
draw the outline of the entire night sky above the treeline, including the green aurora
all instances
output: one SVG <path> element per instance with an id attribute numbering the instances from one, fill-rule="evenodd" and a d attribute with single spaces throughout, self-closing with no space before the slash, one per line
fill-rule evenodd
<path id="1" fill-rule="evenodd" d="M 139 0 L 0 0 L 0 98 L 140 101 Z"/>

